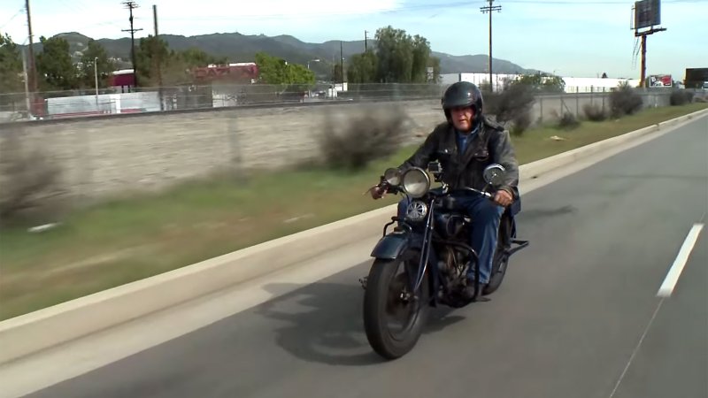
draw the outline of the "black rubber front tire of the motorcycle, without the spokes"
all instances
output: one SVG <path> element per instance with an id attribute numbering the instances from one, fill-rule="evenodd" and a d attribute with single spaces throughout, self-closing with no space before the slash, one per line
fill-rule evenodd
<path id="1" fill-rule="evenodd" d="M 390 284 L 393 282 L 396 271 L 400 265 L 404 265 L 403 255 L 412 257 L 413 261 L 417 262 L 419 252 L 406 251 L 396 260 L 374 260 L 371 271 L 366 282 L 366 293 L 364 295 L 364 329 L 366 331 L 366 339 L 373 350 L 380 356 L 392 360 L 404 356 L 415 347 L 423 332 L 423 327 L 426 325 L 427 316 L 429 314 L 429 288 L 427 285 L 427 272 L 423 277 L 422 285 L 419 289 L 419 298 L 417 301 L 409 302 L 409 306 L 415 310 L 411 315 L 412 319 L 408 319 L 406 330 L 400 335 L 394 335 L 387 325 L 387 307 L 389 306 Z M 418 268 L 406 267 L 406 270 L 415 270 Z M 416 274 L 409 276 L 410 283 L 413 283 Z M 407 279 L 407 278 L 406 278 Z M 409 289 L 410 290 L 410 289 Z"/>

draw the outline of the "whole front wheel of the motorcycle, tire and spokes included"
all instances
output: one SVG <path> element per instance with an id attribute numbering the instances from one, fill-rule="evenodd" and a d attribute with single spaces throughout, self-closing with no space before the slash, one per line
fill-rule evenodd
<path id="1" fill-rule="evenodd" d="M 407 354 L 416 345 L 430 310 L 427 275 L 412 294 L 418 251 L 406 251 L 396 260 L 373 262 L 364 295 L 364 328 L 373 350 L 386 359 Z"/>

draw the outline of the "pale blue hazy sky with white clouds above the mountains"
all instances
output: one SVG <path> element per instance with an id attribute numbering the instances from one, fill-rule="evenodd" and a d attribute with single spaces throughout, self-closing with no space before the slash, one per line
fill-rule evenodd
<path id="1" fill-rule="evenodd" d="M 0 32 L 27 40 L 24 0 L 0 1 Z M 358 40 L 391 25 L 421 34 L 436 51 L 488 54 L 489 16 L 481 1 L 454 0 L 151 0 L 136 2 L 136 37 L 153 32 L 152 4 L 161 34 L 291 34 L 304 42 Z M 494 57 L 563 76 L 638 78 L 640 59 L 630 30 L 633 1 L 496 0 Z M 234 8 L 228 9 L 227 6 Z M 663 0 L 661 26 L 648 38 L 647 73 L 708 67 L 708 0 Z M 32 25 L 40 35 L 80 32 L 94 38 L 127 36 L 128 11 L 120 0 L 31 0 Z M 250 61 L 250 60 L 239 60 Z"/>

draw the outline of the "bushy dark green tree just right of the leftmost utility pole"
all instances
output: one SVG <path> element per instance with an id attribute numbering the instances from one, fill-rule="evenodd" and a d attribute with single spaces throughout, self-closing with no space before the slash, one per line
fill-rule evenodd
<path id="1" fill-rule="evenodd" d="M 69 42 L 60 37 L 42 36 L 37 54 L 37 80 L 42 90 L 70 90 L 78 87 L 78 71 L 69 53 Z"/>

